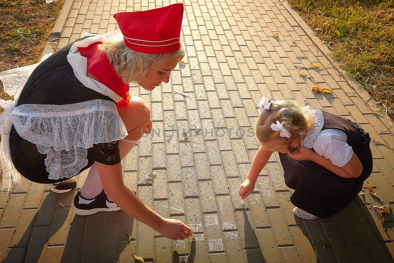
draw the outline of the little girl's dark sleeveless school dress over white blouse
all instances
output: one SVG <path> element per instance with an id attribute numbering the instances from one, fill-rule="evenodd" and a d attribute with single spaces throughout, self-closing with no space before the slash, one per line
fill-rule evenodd
<path id="1" fill-rule="evenodd" d="M 298 161 L 287 153 L 279 153 L 286 185 L 294 189 L 290 201 L 298 208 L 321 218 L 334 215 L 361 191 L 363 182 L 372 172 L 371 138 L 357 124 L 323 112 L 325 129 L 338 129 L 346 133 L 347 143 L 362 163 L 357 178 L 344 178 L 309 160 Z M 313 145 L 313 143 L 312 143 Z"/>

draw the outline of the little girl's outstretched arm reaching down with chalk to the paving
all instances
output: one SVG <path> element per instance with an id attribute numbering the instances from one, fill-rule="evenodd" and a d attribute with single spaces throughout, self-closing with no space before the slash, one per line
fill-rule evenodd
<path id="1" fill-rule="evenodd" d="M 255 158 L 253 159 L 252 165 L 250 167 L 249 173 L 245 179 L 245 181 L 240 185 L 239 194 L 242 199 L 245 199 L 253 189 L 255 188 L 255 183 L 257 181 L 257 177 L 261 170 L 263 170 L 264 166 L 267 164 L 269 157 L 271 157 L 272 151 L 267 151 L 260 146 L 256 153 Z"/>

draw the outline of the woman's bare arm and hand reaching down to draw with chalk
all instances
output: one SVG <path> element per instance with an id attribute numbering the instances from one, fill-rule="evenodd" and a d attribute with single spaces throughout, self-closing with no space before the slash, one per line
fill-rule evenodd
<path id="1" fill-rule="evenodd" d="M 138 221 L 147 224 L 170 239 L 185 239 L 191 228 L 174 219 L 162 218 L 147 207 L 132 190 L 123 183 L 122 164 L 105 165 L 96 162 L 104 192 L 123 210 Z"/>

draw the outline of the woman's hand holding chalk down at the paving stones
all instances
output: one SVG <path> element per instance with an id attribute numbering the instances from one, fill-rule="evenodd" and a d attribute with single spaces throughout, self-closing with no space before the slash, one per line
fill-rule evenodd
<path id="1" fill-rule="evenodd" d="M 163 218 L 157 231 L 173 240 L 184 240 L 191 236 L 191 228 L 176 219 Z"/>

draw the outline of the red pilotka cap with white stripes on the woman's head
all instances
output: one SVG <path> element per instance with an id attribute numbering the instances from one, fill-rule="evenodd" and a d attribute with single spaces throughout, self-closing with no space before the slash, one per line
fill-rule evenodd
<path id="1" fill-rule="evenodd" d="M 180 48 L 183 4 L 147 11 L 122 12 L 113 17 L 119 24 L 125 45 L 132 50 L 162 54 Z"/>

